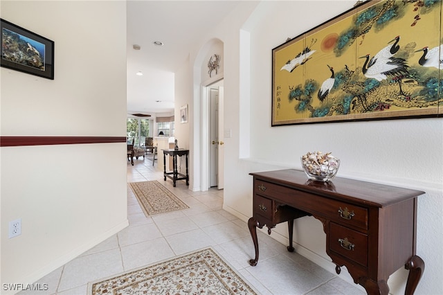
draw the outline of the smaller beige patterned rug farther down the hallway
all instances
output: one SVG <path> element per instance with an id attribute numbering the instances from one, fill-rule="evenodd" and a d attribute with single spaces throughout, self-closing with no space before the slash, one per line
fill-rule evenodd
<path id="1" fill-rule="evenodd" d="M 129 187 L 146 216 L 189 208 L 159 181 L 130 182 Z"/>

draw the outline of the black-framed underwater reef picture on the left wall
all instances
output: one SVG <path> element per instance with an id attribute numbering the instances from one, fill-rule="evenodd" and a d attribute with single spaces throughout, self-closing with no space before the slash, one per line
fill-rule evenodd
<path id="1" fill-rule="evenodd" d="M 54 42 L 0 19 L 1 66 L 54 80 Z"/>

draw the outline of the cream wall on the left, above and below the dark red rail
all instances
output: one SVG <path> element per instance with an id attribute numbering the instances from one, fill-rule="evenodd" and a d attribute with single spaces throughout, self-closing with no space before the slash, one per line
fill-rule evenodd
<path id="1" fill-rule="evenodd" d="M 1 1 L 1 18 L 55 42 L 55 80 L 1 68 L 1 136 L 125 137 L 125 1 Z M 1 147 L 2 284 L 33 283 L 127 226 L 125 150 Z"/>

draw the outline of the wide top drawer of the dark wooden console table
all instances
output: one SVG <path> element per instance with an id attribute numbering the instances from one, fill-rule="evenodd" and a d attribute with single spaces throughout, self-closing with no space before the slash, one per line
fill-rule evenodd
<path id="1" fill-rule="evenodd" d="M 258 179 L 254 180 L 254 194 L 277 199 L 279 202 L 289 206 L 320 215 L 345 226 L 368 229 L 368 209 L 347 202 L 329 199 Z"/>

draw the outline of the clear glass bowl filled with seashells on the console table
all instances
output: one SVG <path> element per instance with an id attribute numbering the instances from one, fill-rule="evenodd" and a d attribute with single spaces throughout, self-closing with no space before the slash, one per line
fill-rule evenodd
<path id="1" fill-rule="evenodd" d="M 308 152 L 300 157 L 302 168 L 309 179 L 315 181 L 330 181 L 337 174 L 340 160 L 330 152 Z"/>

